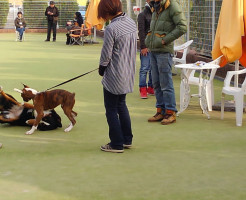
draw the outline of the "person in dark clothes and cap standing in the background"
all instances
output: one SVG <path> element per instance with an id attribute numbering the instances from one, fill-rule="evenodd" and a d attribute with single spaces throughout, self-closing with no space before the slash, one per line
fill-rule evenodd
<path id="1" fill-rule="evenodd" d="M 47 16 L 48 29 L 46 42 L 50 41 L 51 29 L 53 29 L 53 42 L 56 41 L 56 26 L 59 16 L 59 10 L 55 7 L 55 2 L 50 1 L 50 6 L 46 8 L 45 16 Z"/>

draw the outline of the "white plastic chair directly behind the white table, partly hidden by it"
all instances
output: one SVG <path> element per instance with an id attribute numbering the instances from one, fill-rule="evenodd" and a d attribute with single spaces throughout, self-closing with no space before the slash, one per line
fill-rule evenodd
<path id="1" fill-rule="evenodd" d="M 210 62 L 211 64 L 219 65 L 221 57 L 218 57 L 217 59 Z M 206 97 L 207 97 L 207 105 L 208 105 L 208 111 L 212 111 L 212 106 L 214 105 L 214 76 L 216 74 L 217 69 L 212 69 L 210 72 L 210 77 L 206 81 Z M 199 77 L 195 77 L 196 70 L 192 70 L 189 76 L 189 85 L 197 85 L 199 86 Z M 200 87 L 199 87 L 200 88 Z M 199 91 L 200 93 L 200 91 Z"/>

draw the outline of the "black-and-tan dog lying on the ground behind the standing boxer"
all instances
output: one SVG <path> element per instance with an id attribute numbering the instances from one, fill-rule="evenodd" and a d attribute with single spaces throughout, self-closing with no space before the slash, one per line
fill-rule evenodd
<path id="1" fill-rule="evenodd" d="M 20 104 L 13 96 L 6 94 L 0 86 L 0 123 L 14 126 L 32 126 L 33 119 L 35 119 L 33 105 Z M 61 117 L 55 110 L 51 110 L 45 113 L 38 125 L 38 130 L 48 131 L 58 127 L 62 127 Z"/>

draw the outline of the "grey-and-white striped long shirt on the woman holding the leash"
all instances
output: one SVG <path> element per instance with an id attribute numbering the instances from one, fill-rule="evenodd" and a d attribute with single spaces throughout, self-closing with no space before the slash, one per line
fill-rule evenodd
<path id="1" fill-rule="evenodd" d="M 100 65 L 107 66 L 103 87 L 115 95 L 133 92 L 137 27 L 125 14 L 112 19 L 104 31 Z"/>

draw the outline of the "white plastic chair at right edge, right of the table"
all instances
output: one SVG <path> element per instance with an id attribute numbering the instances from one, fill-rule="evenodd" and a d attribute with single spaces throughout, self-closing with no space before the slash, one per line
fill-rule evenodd
<path id="1" fill-rule="evenodd" d="M 239 71 L 229 71 L 226 74 L 224 80 L 224 87 L 222 89 L 221 95 L 221 119 L 224 118 L 224 108 L 225 108 L 225 95 L 233 95 L 236 108 L 236 125 L 242 126 L 243 119 L 243 107 L 244 107 L 244 95 L 246 94 L 246 78 L 243 81 L 243 84 L 240 87 L 231 87 L 230 82 L 233 76 L 239 74 L 246 74 L 246 69 Z"/>

